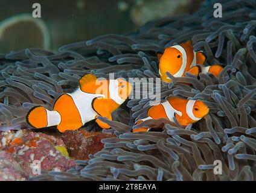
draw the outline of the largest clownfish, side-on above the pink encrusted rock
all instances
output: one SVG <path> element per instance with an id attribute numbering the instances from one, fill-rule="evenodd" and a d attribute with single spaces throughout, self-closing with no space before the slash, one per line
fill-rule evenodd
<path id="1" fill-rule="evenodd" d="M 60 132 L 77 130 L 94 119 L 101 128 L 110 128 L 97 117 L 112 120 L 111 113 L 126 101 L 131 91 L 132 85 L 122 78 L 99 80 L 95 75 L 87 74 L 79 80 L 79 87 L 74 92 L 63 93 L 57 98 L 53 110 L 33 107 L 26 119 L 34 128 L 57 125 Z"/>

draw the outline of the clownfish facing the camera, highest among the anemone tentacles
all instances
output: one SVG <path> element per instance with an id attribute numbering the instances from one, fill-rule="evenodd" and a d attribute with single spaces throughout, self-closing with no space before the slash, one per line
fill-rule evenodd
<path id="1" fill-rule="evenodd" d="M 161 80 L 166 83 L 171 82 L 166 72 L 170 72 L 173 77 L 183 77 L 185 72 L 197 77 L 200 72 L 216 72 L 214 75 L 219 75 L 219 69 L 222 69 L 220 65 L 214 65 L 211 67 L 211 71 L 206 71 L 208 67 L 202 66 L 206 57 L 202 51 L 194 51 L 191 40 L 165 48 L 164 54 L 158 53 L 158 59 L 159 75 Z"/>

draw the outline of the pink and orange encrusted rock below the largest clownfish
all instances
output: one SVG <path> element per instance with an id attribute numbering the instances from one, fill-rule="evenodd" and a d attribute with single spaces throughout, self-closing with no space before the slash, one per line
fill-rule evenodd
<path id="1" fill-rule="evenodd" d="M 64 144 L 54 136 L 20 130 L 2 133 L 0 139 L 0 159 L 3 157 L 2 162 L 8 163 L 0 166 L 0 180 L 27 180 L 40 171 L 66 171 L 75 165 L 74 160 L 56 150 Z"/>

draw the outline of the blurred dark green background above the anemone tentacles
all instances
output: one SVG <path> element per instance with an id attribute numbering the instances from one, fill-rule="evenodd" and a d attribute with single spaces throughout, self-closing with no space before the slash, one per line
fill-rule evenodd
<path id="1" fill-rule="evenodd" d="M 41 19 L 31 17 L 34 3 L 41 5 Z M 56 51 L 102 34 L 134 31 L 146 21 L 191 12 L 199 4 L 200 0 L 0 0 L 0 52 L 34 47 Z M 30 21 L 22 22 L 24 16 Z M 38 21 L 43 21 L 44 32 Z"/>

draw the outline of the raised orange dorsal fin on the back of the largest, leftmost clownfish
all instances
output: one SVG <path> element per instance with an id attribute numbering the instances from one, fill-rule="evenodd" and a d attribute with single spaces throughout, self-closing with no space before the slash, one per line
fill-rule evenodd
<path id="1" fill-rule="evenodd" d="M 94 74 L 86 74 L 79 80 L 80 89 L 83 92 L 95 93 L 97 77 Z"/>

